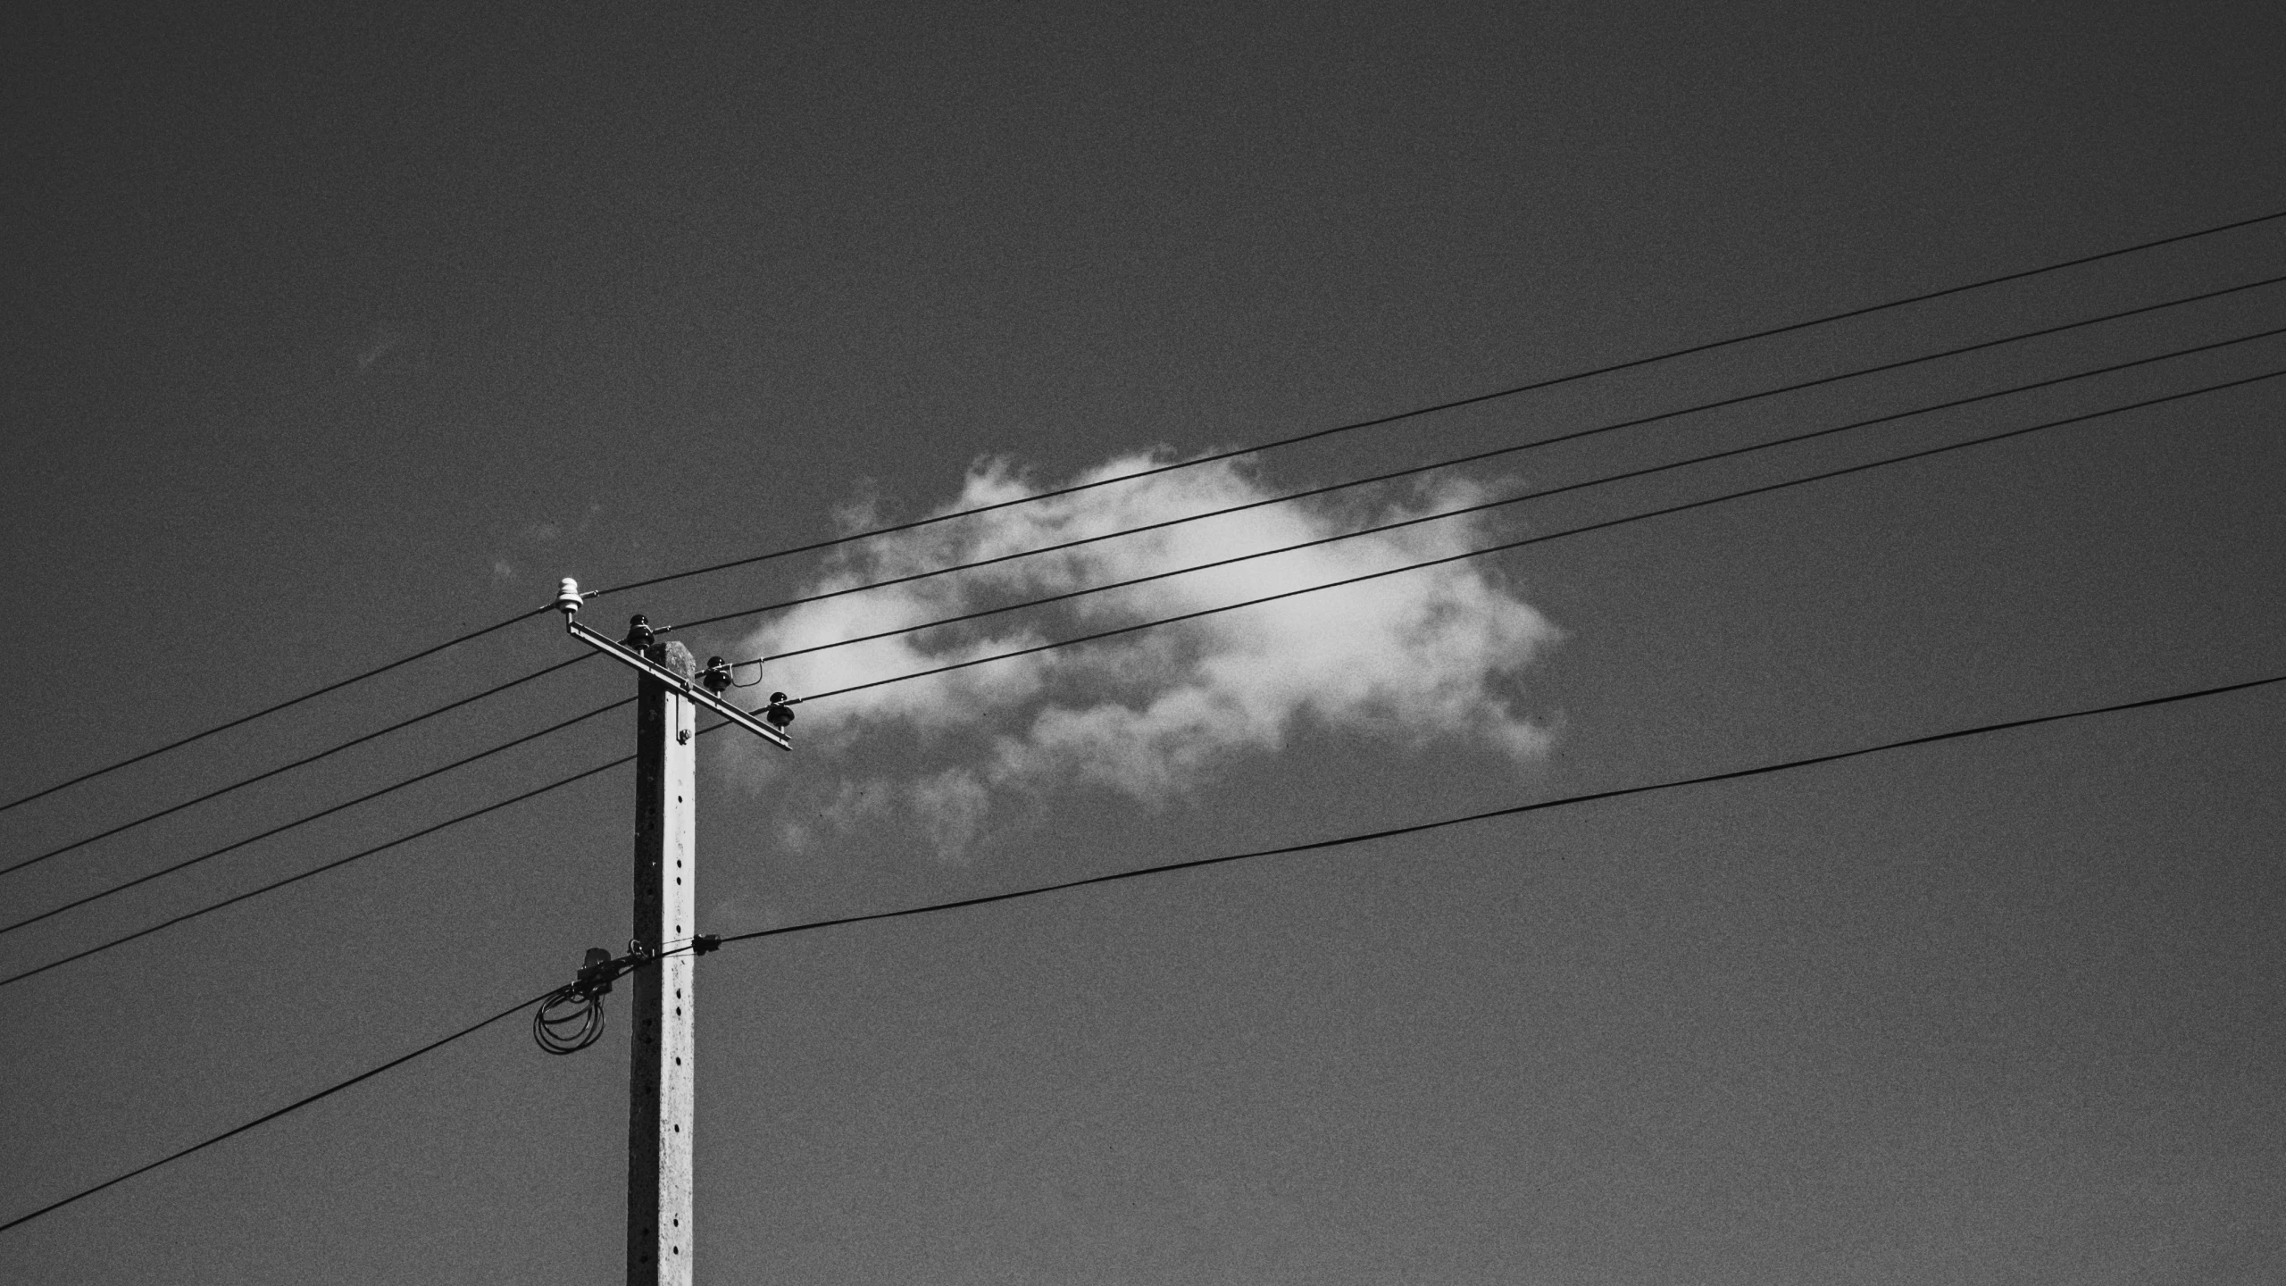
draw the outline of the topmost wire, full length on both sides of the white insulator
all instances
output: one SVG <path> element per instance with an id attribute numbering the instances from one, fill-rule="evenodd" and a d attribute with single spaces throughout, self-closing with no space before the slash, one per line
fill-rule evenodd
<path id="1" fill-rule="evenodd" d="M 976 515 L 976 513 L 990 513 L 990 510 L 1008 508 L 1008 506 L 1015 506 L 1015 503 L 1042 501 L 1042 499 L 1052 499 L 1052 497 L 1084 492 L 1084 490 L 1090 490 L 1090 487 L 1102 487 L 1102 485 L 1111 485 L 1111 483 L 1127 483 L 1127 481 L 1145 478 L 1145 476 L 1152 476 L 1152 474 L 1166 474 L 1166 471 L 1173 471 L 1173 469 L 1191 469 L 1191 467 L 1209 465 L 1209 462 L 1216 462 L 1216 460 L 1232 460 L 1237 455 L 1253 455 L 1257 451 L 1276 451 L 1280 446 L 1294 446 L 1294 444 L 1301 444 L 1301 442 L 1312 442 L 1312 439 L 1330 437 L 1330 435 L 1337 435 L 1337 432 L 1356 432 L 1356 430 L 1362 430 L 1362 428 L 1378 428 L 1378 426 L 1397 423 L 1397 421 L 1404 421 L 1404 419 L 1415 419 L 1415 416 L 1424 416 L 1424 414 L 1438 414 L 1438 412 L 1458 410 L 1458 407 L 1468 407 L 1468 405 L 1490 403 L 1490 400 L 1497 400 L 1497 398 L 1511 398 L 1511 396 L 1529 394 L 1529 391 L 1538 391 L 1538 389 L 1552 389 L 1557 384 L 1570 384 L 1570 382 L 1591 380 L 1591 378 L 1598 378 L 1598 375 L 1614 375 L 1618 371 L 1632 371 L 1632 368 L 1650 366 L 1650 364 L 1657 364 L 1657 362 L 1673 362 L 1678 357 L 1692 357 L 1692 355 L 1698 355 L 1698 352 L 1714 352 L 1719 348 L 1731 348 L 1731 346 L 1737 346 L 1737 343 L 1751 343 L 1751 341 L 1758 341 L 1758 339 L 1774 339 L 1774 336 L 1792 334 L 1792 332 L 1808 330 L 1808 327 L 1831 325 L 1831 323 L 1840 323 L 1840 320 L 1849 320 L 1849 318 L 1861 318 L 1861 316 L 1870 316 L 1870 313 L 1879 313 L 1879 311 L 1888 311 L 1888 309 L 1902 309 L 1902 307 L 1911 307 L 1911 304 L 1925 304 L 1925 302 L 1932 302 L 1932 300 L 1943 300 L 1948 295 L 1961 295 L 1961 293 L 1968 293 L 1968 291 L 1982 291 L 1982 288 L 2000 286 L 2000 284 L 2007 284 L 2007 281 L 2023 281 L 2028 277 L 2041 277 L 2041 275 L 2048 275 L 2048 272 L 2062 272 L 2067 268 L 2083 268 L 2083 265 L 2089 265 L 2089 263 L 2101 263 L 2105 259 L 2119 259 L 2119 256 L 2126 256 L 2126 254 L 2140 254 L 2144 249 L 2158 249 L 2158 247 L 2165 247 L 2165 245 L 2179 245 L 2179 243 L 2185 243 L 2185 240 L 2197 240 L 2197 238 L 2206 238 L 2206 236 L 2220 236 L 2220 233 L 2227 233 L 2227 231 L 2238 231 L 2238 229 L 2247 229 L 2247 227 L 2275 222 L 2275 220 L 2281 220 L 2281 217 L 2286 217 L 2286 211 L 2272 211 L 2268 215 L 2254 215 L 2254 217 L 2245 217 L 2245 220 L 2231 220 L 2231 222 L 2204 227 L 2204 229 L 2197 229 L 2197 231 L 2185 231 L 2185 233 L 2163 236 L 2163 238 L 2153 238 L 2153 240 L 2142 240 L 2142 243 L 2135 243 L 2135 245 L 2126 245 L 2126 247 L 2117 247 L 2117 249 L 2105 249 L 2105 252 L 2099 252 L 2099 254 L 2083 254 L 2078 259 L 2064 259 L 2064 261 L 2046 263 L 2046 265 L 2039 265 L 2039 268 L 2023 268 L 2023 270 L 2016 270 L 2016 272 L 2003 272 L 1998 277 L 1982 277 L 1977 281 L 1966 281 L 1966 284 L 1959 284 L 1959 286 L 1945 286 L 1945 288 L 1939 288 L 1939 291 L 1923 291 L 1918 295 L 1904 295 L 1904 297 L 1886 300 L 1886 302 L 1879 302 L 1879 304 L 1863 304 L 1863 307 L 1856 307 L 1856 309 L 1845 309 L 1845 311 L 1838 311 L 1838 313 L 1824 313 L 1824 316 L 1799 320 L 1799 323 L 1785 323 L 1785 325 L 1776 325 L 1776 327 L 1765 327 L 1765 330 L 1756 330 L 1756 332 L 1747 332 L 1747 334 L 1735 334 L 1735 336 L 1728 336 L 1728 339 L 1701 341 L 1701 343 L 1692 343 L 1692 346 L 1685 346 L 1685 348 L 1671 348 L 1671 350 L 1664 350 L 1664 352 L 1655 352 L 1655 355 L 1648 355 L 1648 357 L 1632 357 L 1632 359 L 1625 359 L 1625 362 L 1612 362 L 1612 364 L 1605 364 L 1605 366 L 1591 366 L 1591 368 L 1584 368 L 1584 371 L 1570 371 L 1566 375 L 1550 375 L 1550 378 L 1534 380 L 1534 382 L 1527 382 L 1527 384 L 1513 384 L 1513 387 L 1506 387 L 1506 389 L 1495 389 L 1490 394 L 1474 394 L 1474 396 L 1468 396 L 1468 398 L 1454 398 L 1454 400 L 1447 400 L 1447 403 L 1436 403 L 1436 405 L 1426 405 L 1426 407 L 1413 407 L 1413 410 L 1404 410 L 1404 412 L 1394 412 L 1394 414 L 1385 414 L 1385 416 L 1376 416 L 1376 419 L 1337 423 L 1333 428 L 1321 428 L 1321 430 L 1312 430 L 1312 432 L 1280 437 L 1280 439 L 1273 439 L 1273 442 L 1260 442 L 1255 446 L 1241 446 L 1241 448 L 1223 451 L 1223 453 L 1214 453 L 1214 455 L 1200 455 L 1200 458 L 1193 458 L 1193 460 L 1182 460 L 1182 462 L 1175 462 L 1175 465 L 1164 465 L 1164 467 L 1148 469 L 1148 471 L 1141 471 L 1141 474 L 1122 474 L 1120 478 L 1102 478 L 1102 481 L 1095 481 L 1095 483 L 1077 483 L 1077 485 L 1070 485 L 1070 487 L 1058 487 L 1058 490 L 1052 490 L 1052 492 L 1040 492 L 1040 494 L 1033 494 L 1033 497 L 1022 497 L 1017 501 L 1001 501 L 1001 503 L 992 503 L 992 506 L 978 506 L 978 508 L 969 508 L 969 510 L 944 513 L 944 515 L 935 515 L 935 517 L 924 517 L 924 519 L 912 519 L 912 522 L 880 526 L 880 529 L 873 529 L 873 531 L 860 531 L 860 533 L 850 533 L 850 535 L 839 535 L 839 538 L 832 538 L 832 540 L 816 540 L 816 542 L 809 542 L 809 545 L 796 545 L 796 547 L 786 547 L 786 549 L 773 549 L 768 554 L 752 554 L 752 556 L 745 556 L 745 558 L 732 558 L 727 563 L 713 563 L 713 565 L 706 565 L 706 567 L 690 567 L 690 570 L 670 572 L 670 574 L 663 574 L 663 577 L 647 577 L 647 579 L 640 579 L 640 581 L 626 581 L 622 586 L 613 586 L 610 590 L 590 590 L 588 597 L 594 600 L 594 597 L 601 597 L 604 593 L 624 593 L 624 590 L 645 588 L 645 586 L 658 586 L 658 584 L 679 581 L 679 579 L 688 579 L 688 577 L 702 577 L 702 574 L 709 574 L 709 572 L 725 572 L 725 570 L 732 570 L 732 567 L 748 567 L 752 563 L 764 563 L 764 561 L 770 561 L 770 558 L 786 558 L 786 556 L 793 556 L 793 554 L 814 554 L 818 549 L 832 549 L 837 545 L 850 545 L 855 540 L 871 540 L 876 535 L 889 535 L 889 533 L 896 533 L 896 531 L 912 531 L 912 529 L 919 529 L 919 526 L 930 526 L 930 524 L 937 524 L 937 522 L 951 522 L 956 517 L 969 517 L 969 515 Z M 482 638 L 485 634 L 505 629 L 510 625 L 517 625 L 519 620 L 528 620 L 528 618 L 542 616 L 546 611 L 551 611 L 551 609 L 549 606 L 535 606 L 530 611 L 521 611 L 517 616 L 510 616 L 505 620 L 496 620 L 496 622 L 485 625 L 480 629 L 471 629 L 466 634 L 459 634 L 459 636 L 448 638 L 443 643 L 423 648 L 423 650 L 411 652 L 407 657 L 398 657 L 395 661 L 386 661 L 386 664 L 375 666 L 370 670 L 363 670 L 363 673 L 350 675 L 345 680 L 336 680 L 331 684 L 311 689 L 311 691 L 306 691 L 302 696 L 293 696 L 293 698 L 286 698 L 286 700 L 281 700 L 277 705 L 267 705 L 263 709 L 256 709 L 251 714 L 242 714 L 242 716 L 229 719 L 224 723 L 215 723 L 210 728 L 203 728 L 199 732 L 192 732 L 187 737 L 169 741 L 165 746 L 158 746 L 158 748 L 151 748 L 151 751 L 142 751 L 137 755 L 128 755 L 126 760 L 110 762 L 110 764 L 105 764 L 101 769 L 89 769 L 89 771 L 85 771 L 80 776 L 59 780 L 55 785 L 34 789 L 32 794 L 23 794 L 23 796 L 16 796 L 16 799 L 11 799 L 7 803 L 0 803 L 0 812 L 7 812 L 9 808 L 16 808 L 21 803 L 32 803 L 34 799 L 50 796 L 50 794 L 55 794 L 59 789 L 66 789 L 66 787 L 73 787 L 73 785 L 80 785 L 80 783 L 89 783 L 89 780 L 101 778 L 105 773 L 114 773 L 114 771 L 126 769 L 130 764 L 139 764 L 139 762 L 151 760 L 155 755 L 165 755 L 169 751 L 181 751 L 183 746 L 190 746 L 192 741 L 201 741 L 201 739 L 213 737 L 217 732 L 226 732 L 231 728 L 240 728 L 240 725 L 251 723 L 256 719 L 265 719 L 270 714 L 279 714 L 281 709 L 290 709 L 295 705 L 302 705 L 304 700 L 313 700 L 313 698 L 320 698 L 325 693 L 341 691 L 341 689 L 345 689 L 350 684 L 370 680 L 375 675 L 384 675 L 384 673 L 389 673 L 389 670 L 393 670 L 398 666 L 407 666 L 407 664 L 418 661 L 423 657 L 434 657 L 437 652 L 443 652 L 448 648 L 457 648 L 457 645 L 469 643 L 473 638 Z"/>

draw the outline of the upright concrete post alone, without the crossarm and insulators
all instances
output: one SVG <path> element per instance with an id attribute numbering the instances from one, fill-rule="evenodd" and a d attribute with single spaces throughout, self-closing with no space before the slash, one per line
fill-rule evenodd
<path id="1" fill-rule="evenodd" d="M 697 677 L 681 643 L 645 659 Z M 636 682 L 636 943 L 658 952 L 697 936 L 697 705 L 649 675 Z M 690 1286 L 697 956 L 661 956 L 629 982 L 626 1286 Z"/>

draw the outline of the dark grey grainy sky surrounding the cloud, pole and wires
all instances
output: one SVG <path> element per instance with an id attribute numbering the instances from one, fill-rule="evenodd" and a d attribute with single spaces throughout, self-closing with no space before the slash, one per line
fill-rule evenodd
<path id="1" fill-rule="evenodd" d="M 2286 208 L 2275 5 L 14 5 L 7 799 L 972 460 L 1321 428 Z M 2286 270 L 2265 224 L 1260 465 L 1337 481 Z M 1557 485 L 2286 323 L 2277 288 L 1474 474 Z M 1554 531 L 2286 366 L 1525 506 Z M 1557 540 L 1543 760 L 1308 721 L 946 860 L 780 844 L 716 931 L 2286 668 L 2279 389 Z M 768 602 L 766 563 L 597 606 Z M 640 602 L 636 602 L 640 597 Z M 734 627 L 700 634 L 732 650 Z M 0 815 L 9 860 L 572 654 L 533 620 Z M 14 920 L 631 689 L 601 664 L 0 876 Z M 700 1275 L 2275 1281 L 2279 696 L 2000 735 L 702 966 Z M 798 732 L 823 737 L 830 702 Z M 0 936 L 16 973 L 626 751 L 606 716 Z M 894 751 L 882 751 L 894 753 Z M 0 1217 L 567 979 L 613 773 L 0 989 Z M 615 1011 L 624 1018 L 624 1011 Z M 39 1284 L 613 1281 L 626 1046 L 521 1023 L 0 1236 Z"/>

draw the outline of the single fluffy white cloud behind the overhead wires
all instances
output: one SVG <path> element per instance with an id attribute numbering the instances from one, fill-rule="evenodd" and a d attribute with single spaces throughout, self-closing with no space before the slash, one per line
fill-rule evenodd
<path id="1" fill-rule="evenodd" d="M 1154 455 L 1104 462 L 1079 483 L 1161 465 Z M 960 497 L 937 513 L 1038 494 L 1013 467 L 974 467 Z M 1239 462 L 1052 497 L 990 515 L 862 540 L 828 563 L 812 590 L 860 586 L 1122 531 L 1168 517 L 1264 499 Z M 1442 481 L 1410 497 L 1314 499 L 1122 535 L 1058 554 L 1017 558 L 805 604 L 745 641 L 745 654 L 857 638 L 988 606 L 1125 581 L 1234 554 L 1280 549 L 1356 526 L 1442 513 L 1481 501 L 1479 485 Z M 855 513 L 855 510 L 853 510 Z M 1484 515 L 1458 515 L 1314 549 L 972 625 L 850 643 L 775 659 L 770 689 L 821 693 L 1164 616 L 1276 595 L 1458 554 L 1486 542 Z M 1166 805 L 1234 755 L 1278 751 L 1305 721 L 1369 732 L 1394 748 L 1477 744 L 1529 760 L 1548 732 L 1518 714 L 1504 689 L 1554 638 L 1479 561 L 1404 572 L 1276 604 L 1246 606 L 1102 643 L 1036 652 L 944 675 L 821 698 L 802 707 L 805 755 L 850 757 L 896 739 L 903 778 L 844 785 L 828 810 L 837 828 L 908 810 L 942 854 L 960 856 L 1010 801 L 1088 785 Z"/>

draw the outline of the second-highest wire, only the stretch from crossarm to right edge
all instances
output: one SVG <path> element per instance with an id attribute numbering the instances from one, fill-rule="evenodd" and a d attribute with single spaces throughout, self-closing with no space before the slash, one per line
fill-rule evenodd
<path id="1" fill-rule="evenodd" d="M 2073 320 L 2073 323 L 2051 325 L 2051 327 L 2030 330 L 2030 332 L 2021 332 L 2021 334 L 2007 334 L 2007 336 L 2000 336 L 2000 339 L 1984 339 L 1984 341 L 1977 341 L 1977 343 L 1964 343 L 1964 346 L 1945 348 L 1945 350 L 1939 350 L 1939 352 L 1923 352 L 1920 357 L 1904 357 L 1904 359 L 1897 359 L 1897 362 L 1881 362 L 1877 366 L 1861 366 L 1856 371 L 1843 371 L 1838 375 L 1820 375 L 1815 380 L 1799 380 L 1799 382 L 1792 382 L 1792 384 L 1779 384 L 1774 389 L 1760 389 L 1760 391 L 1753 391 L 1753 394 L 1737 394 L 1737 396 L 1728 396 L 1728 398 L 1717 398 L 1712 403 L 1696 403 L 1696 405 L 1671 410 L 1671 412 L 1657 412 L 1657 414 L 1648 414 L 1648 416 L 1623 419 L 1623 421 L 1614 421 L 1614 423 L 1602 423 L 1602 426 L 1593 426 L 1593 428 L 1561 432 L 1561 435 L 1554 435 L 1554 437 L 1536 437 L 1532 442 L 1516 442 L 1516 444 L 1509 444 L 1509 446 L 1495 446 L 1490 451 L 1472 451 L 1468 455 L 1452 455 L 1452 458 L 1445 458 L 1445 460 L 1431 460 L 1429 465 L 1408 465 L 1404 469 L 1390 469 L 1385 474 L 1372 474 L 1372 476 L 1365 476 L 1365 478 L 1349 478 L 1349 481 L 1342 481 L 1342 483 L 1326 483 L 1321 487 L 1303 487 L 1303 490 L 1296 490 L 1296 492 L 1285 492 L 1285 494 L 1266 497 L 1266 499 L 1260 499 L 1260 501 L 1246 501 L 1246 503 L 1212 508 L 1212 510 L 1202 510 L 1202 513 L 1193 513 L 1193 515 L 1184 515 L 1184 517 L 1168 517 L 1168 519 L 1161 519 L 1161 522 L 1145 522 L 1145 524 L 1127 526 L 1127 529 L 1120 529 L 1120 531 L 1104 531 L 1100 535 L 1081 535 L 1077 540 L 1063 540 L 1063 542 L 1056 542 L 1056 545 L 1040 545 L 1036 549 L 1017 549 L 1015 554 L 997 554 L 992 558 L 976 558 L 976 561 L 969 561 L 969 563 L 953 563 L 951 567 L 933 567 L 928 572 L 912 572 L 912 574 L 903 574 L 903 577 L 887 577 L 887 579 L 880 579 L 880 581 L 866 581 L 862 586 L 846 586 L 846 588 L 837 588 L 837 590 L 818 590 L 818 593 L 809 593 L 809 595 L 800 595 L 800 597 L 768 602 L 768 604 L 761 604 L 761 606 L 748 606 L 748 609 L 738 609 L 738 611 L 725 611 L 720 616 L 702 616 L 697 620 L 677 622 L 677 629 L 695 629 L 700 625 L 720 625 L 725 620 L 738 620 L 741 616 L 759 616 L 764 611 L 782 611 L 782 609 L 789 609 L 789 606 L 802 606 L 802 604 L 812 604 L 812 602 L 825 602 L 825 600 L 834 600 L 834 597 L 844 597 L 844 595 L 857 595 L 857 593 L 878 590 L 878 588 L 887 588 L 887 586 L 903 586 L 903 584 L 912 584 L 912 581 L 926 581 L 926 579 L 933 579 L 933 577 L 946 577 L 946 574 L 953 574 L 953 572 L 969 572 L 969 570 L 976 570 L 976 567 L 990 567 L 990 565 L 997 565 L 997 563 L 1010 563 L 1015 558 L 1031 558 L 1031 556 L 1038 556 L 1038 554 L 1056 554 L 1056 551 L 1063 551 L 1063 549 L 1077 549 L 1081 545 L 1095 545 L 1095 542 L 1102 542 L 1102 540 L 1118 540 L 1120 535 L 1138 535 L 1138 533 L 1145 533 L 1145 531 L 1161 531 L 1161 529 L 1168 529 L 1168 526 L 1182 526 L 1186 522 L 1205 522 L 1209 517 L 1223 517 L 1223 515 L 1246 513 L 1246 510 L 1255 510 L 1255 508 L 1264 508 L 1264 506 L 1278 506 L 1278 503 L 1289 503 L 1289 501 L 1298 501 L 1298 499 L 1324 497 L 1324 494 L 1342 492 L 1342 490 L 1351 490 L 1351 487 L 1369 487 L 1374 483 L 1390 483 L 1390 481 L 1397 481 L 1397 478 L 1410 478 L 1410 476 L 1429 474 L 1429 471 L 1436 471 L 1436 469 L 1454 469 L 1454 467 L 1461 467 L 1461 465 L 1477 465 L 1477 462 L 1495 460 L 1495 458 L 1502 458 L 1502 455 L 1516 455 L 1520 451 L 1538 451 L 1541 446 L 1557 446 L 1561 442 L 1580 442 L 1584 437 L 1596 437 L 1596 435 L 1602 435 L 1602 432 L 1616 432 L 1616 430 L 1623 430 L 1623 428 L 1641 428 L 1646 423 L 1657 423 L 1657 421 L 1664 421 L 1664 419 L 1680 419 L 1680 416 L 1712 412 L 1712 410 L 1721 410 L 1721 407 L 1735 407 L 1735 405 L 1751 403 L 1751 400 L 1758 400 L 1758 398 L 1776 398 L 1781 394 L 1799 394 L 1804 389 L 1815 389 L 1815 387 L 1822 387 L 1822 384 L 1836 384 L 1836 382 L 1843 382 L 1843 380 L 1856 380 L 1856 378 L 1863 378 L 1863 375 L 1879 375 L 1879 373 L 1886 373 L 1886 371 L 1900 371 L 1904 366 L 1918 366 L 1923 362 L 1941 362 L 1945 357 L 1961 357 L 1966 352 L 1977 352 L 1977 350 L 1984 350 L 1984 348 L 1998 348 L 1998 346 L 2005 346 L 2005 343 L 2021 343 L 2021 341 L 2028 341 L 2028 339 L 2041 339 L 2041 336 L 2051 336 L 2051 334 L 2062 334 L 2062 332 L 2069 332 L 2069 330 L 2080 330 L 2080 327 L 2089 327 L 2089 325 L 2112 323 L 2112 320 L 2131 318 L 2131 316 L 2137 316 L 2137 313 L 2151 313 L 2151 311 L 2160 311 L 2160 309 L 2174 309 L 2174 307 L 2183 307 L 2183 304 L 2197 304 L 2197 302 L 2206 302 L 2206 300 L 2217 300 L 2222 295 L 2236 295 L 2240 291 L 2256 291 L 2261 286 L 2275 286 L 2279 281 L 2286 281 L 2286 275 L 2281 275 L 2281 277 L 2263 277 L 2261 281 L 2247 281 L 2247 284 L 2240 284 L 2240 286 L 2224 286 L 2220 291 L 2201 291 L 2197 295 L 2183 295 L 2179 300 L 2163 300 L 2158 304 L 2140 304 L 2140 307 L 2121 309 L 2121 311 L 2115 311 L 2115 313 L 2103 313 L 2103 316 L 2094 316 L 2094 318 L 2080 318 L 2080 320 Z M 1120 481 L 1125 481 L 1129 476 L 1143 476 L 1143 474 L 1127 474 Z M 1045 497 L 1052 497 L 1052 494 L 1061 494 L 1061 492 L 1042 492 L 1040 497 L 1031 497 L 1031 499 L 1045 499 Z"/>

